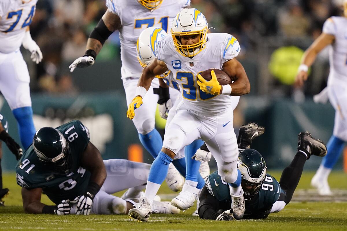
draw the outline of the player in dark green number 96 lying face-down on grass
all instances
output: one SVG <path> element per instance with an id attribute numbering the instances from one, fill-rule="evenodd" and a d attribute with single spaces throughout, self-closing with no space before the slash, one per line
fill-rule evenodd
<path id="1" fill-rule="evenodd" d="M 325 156 L 325 144 L 314 139 L 310 133 L 301 132 L 298 149 L 293 161 L 282 172 L 280 182 L 266 174 L 266 163 L 261 154 L 249 149 L 252 139 L 263 134 L 264 128 L 251 123 L 240 128 L 238 136 L 238 171 L 241 172 L 241 185 L 244 190 L 245 214 L 243 219 L 262 219 L 270 213 L 277 213 L 287 205 L 299 183 L 304 164 L 312 155 Z M 199 151 L 199 150 L 198 150 Z M 202 151 L 196 153 L 196 159 L 206 157 Z M 201 219 L 232 220 L 230 211 L 232 200 L 228 184 L 218 172 L 213 172 L 200 194 L 199 216 Z"/>

